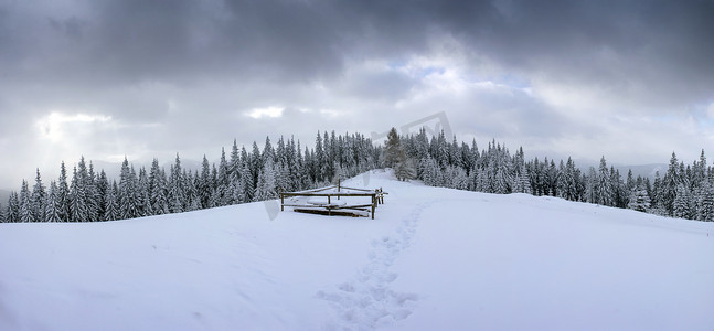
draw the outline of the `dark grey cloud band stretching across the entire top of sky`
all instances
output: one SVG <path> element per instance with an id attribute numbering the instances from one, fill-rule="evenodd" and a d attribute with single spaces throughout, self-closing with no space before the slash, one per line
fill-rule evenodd
<path id="1" fill-rule="evenodd" d="M 65 84 L 331 79 L 345 57 L 422 52 L 439 33 L 497 63 L 576 83 L 683 97 L 714 83 L 712 1 L 130 0 L 34 19 L 13 19 L 13 3 L 0 9 L 13 24 L 0 42 L 15 56 L 0 67 Z"/>

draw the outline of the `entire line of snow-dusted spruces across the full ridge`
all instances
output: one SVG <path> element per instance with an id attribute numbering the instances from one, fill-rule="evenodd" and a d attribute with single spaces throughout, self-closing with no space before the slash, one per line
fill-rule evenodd
<path id="1" fill-rule="evenodd" d="M 224 149 L 216 163 L 204 157 L 199 170 L 187 170 L 177 154 L 167 171 L 157 159 L 147 170 L 136 171 L 126 159 L 117 180 L 96 171 L 82 158 L 67 174 L 61 163 L 60 178 L 49 186 L 36 171 L 34 184 L 22 181 L 20 192 L 11 192 L 0 222 L 95 222 L 195 211 L 237 203 L 270 200 L 281 191 L 327 185 L 337 177 L 348 178 L 375 168 L 391 167 L 399 180 L 418 179 L 427 185 L 486 193 L 526 193 L 557 196 L 569 201 L 632 209 L 647 213 L 700 221 L 714 221 L 714 170 L 702 150 L 692 164 L 679 161 L 672 152 L 664 174 L 654 180 L 632 171 L 622 177 L 608 167 L 585 171 L 567 158 L 525 159 L 523 148 L 514 153 L 495 140 L 479 149 L 447 141 L 444 131 L 427 136 L 387 135 L 384 147 L 363 135 L 318 132 L 312 149 L 300 141 L 280 137 L 276 146 L 266 137 L 260 150 L 237 147 L 228 157 Z"/>

